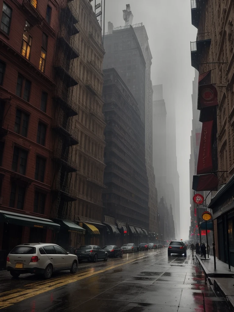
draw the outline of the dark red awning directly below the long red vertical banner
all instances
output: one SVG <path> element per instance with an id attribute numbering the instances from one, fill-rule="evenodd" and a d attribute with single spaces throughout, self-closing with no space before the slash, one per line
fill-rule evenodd
<path id="1" fill-rule="evenodd" d="M 218 178 L 214 173 L 200 174 L 193 176 L 193 190 L 199 191 L 217 191 Z"/>

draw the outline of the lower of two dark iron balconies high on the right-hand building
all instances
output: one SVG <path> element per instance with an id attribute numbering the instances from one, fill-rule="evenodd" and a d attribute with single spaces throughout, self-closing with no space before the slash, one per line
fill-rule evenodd
<path id="1" fill-rule="evenodd" d="M 211 44 L 210 32 L 197 34 L 197 39 L 190 42 L 191 47 L 191 65 L 199 71 L 199 63 L 202 53 L 205 49 L 209 48 Z"/>

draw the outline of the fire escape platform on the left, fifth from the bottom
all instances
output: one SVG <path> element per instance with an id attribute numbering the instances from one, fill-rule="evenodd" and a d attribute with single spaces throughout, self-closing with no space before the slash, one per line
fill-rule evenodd
<path id="1" fill-rule="evenodd" d="M 79 77 L 70 67 L 70 62 L 66 62 L 66 59 L 56 59 L 54 68 L 56 70 L 57 75 L 61 76 L 62 80 L 66 81 L 67 87 L 72 87 L 74 85 L 78 85 Z"/>

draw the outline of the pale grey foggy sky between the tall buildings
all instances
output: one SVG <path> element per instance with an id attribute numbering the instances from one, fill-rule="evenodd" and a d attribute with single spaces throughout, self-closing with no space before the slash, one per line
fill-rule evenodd
<path id="1" fill-rule="evenodd" d="M 99 3 L 99 0 L 96 1 Z M 102 1 L 104 2 L 104 0 Z M 94 4 L 94 1 L 92 2 Z M 143 22 L 153 56 L 151 80 L 163 84 L 167 112 L 176 107 L 176 149 L 180 176 L 181 238 L 188 238 L 190 225 L 189 158 L 192 129 L 192 81 L 190 41 L 196 40 L 197 29 L 191 24 L 189 0 L 106 0 L 105 32 L 110 21 L 124 26 L 123 12 L 130 4 L 133 24 Z M 98 11 L 97 11 L 98 12 Z"/>

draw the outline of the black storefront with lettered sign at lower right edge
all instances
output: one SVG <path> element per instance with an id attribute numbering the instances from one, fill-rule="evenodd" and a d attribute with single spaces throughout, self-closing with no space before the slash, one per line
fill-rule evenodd
<path id="1" fill-rule="evenodd" d="M 208 208 L 212 209 L 214 233 L 217 232 L 219 260 L 234 266 L 234 175 L 219 189 Z"/>

